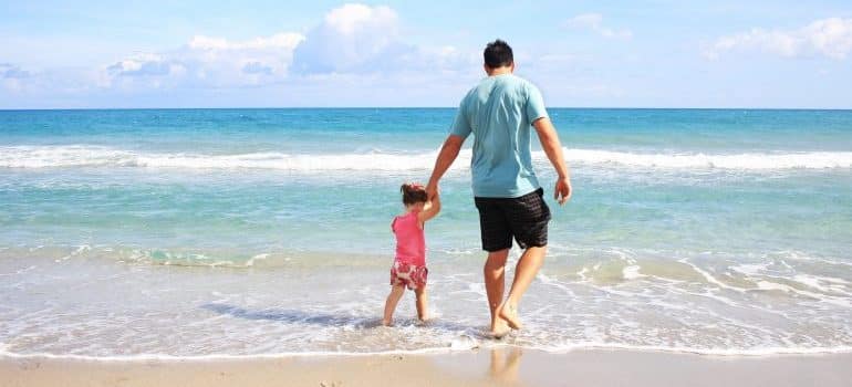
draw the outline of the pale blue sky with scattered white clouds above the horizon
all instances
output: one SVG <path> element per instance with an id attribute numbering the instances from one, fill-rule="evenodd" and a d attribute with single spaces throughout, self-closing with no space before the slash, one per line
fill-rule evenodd
<path id="1" fill-rule="evenodd" d="M 548 106 L 852 108 L 849 0 L 0 2 L 0 108 L 457 106 L 498 38 Z"/>

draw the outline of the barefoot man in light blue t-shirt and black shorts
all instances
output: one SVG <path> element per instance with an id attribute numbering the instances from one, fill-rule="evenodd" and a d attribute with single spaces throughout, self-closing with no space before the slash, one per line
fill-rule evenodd
<path id="1" fill-rule="evenodd" d="M 558 179 L 553 197 L 563 205 L 571 197 L 571 180 L 562 145 L 548 118 L 539 90 L 515 76 L 512 49 L 496 40 L 485 49 L 484 79 L 461 100 L 450 135 L 435 161 L 426 191 L 438 191 L 438 181 L 474 134 L 472 188 L 479 210 L 482 249 L 488 251 L 484 275 L 491 334 L 502 337 L 520 330 L 518 304 L 544 260 L 550 209 L 532 170 L 530 126 L 541 142 Z M 509 296 L 503 301 L 506 259 L 512 238 L 523 249 L 515 269 Z"/>

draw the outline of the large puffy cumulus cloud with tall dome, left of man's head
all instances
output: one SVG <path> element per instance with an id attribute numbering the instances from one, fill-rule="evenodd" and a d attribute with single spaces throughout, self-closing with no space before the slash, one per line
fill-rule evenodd
<path id="1" fill-rule="evenodd" d="M 249 40 L 196 35 L 173 51 L 128 55 L 104 66 L 97 84 L 126 90 L 242 87 L 332 74 L 389 79 L 427 67 L 441 74 L 478 69 L 481 59 L 470 52 L 409 44 L 399 30 L 399 17 L 388 7 L 344 4 L 330 10 L 304 35 L 281 32 Z"/>

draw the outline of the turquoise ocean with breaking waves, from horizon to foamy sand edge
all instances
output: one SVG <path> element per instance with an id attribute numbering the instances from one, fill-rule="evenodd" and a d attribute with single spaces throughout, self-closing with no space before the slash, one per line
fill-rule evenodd
<path id="1" fill-rule="evenodd" d="M 453 108 L 2 111 L 0 354 L 852 352 L 852 111 L 549 112 L 574 194 L 537 145 L 549 253 L 493 341 L 469 139 L 427 226 L 435 318 L 408 292 L 378 326 L 399 185 Z"/>

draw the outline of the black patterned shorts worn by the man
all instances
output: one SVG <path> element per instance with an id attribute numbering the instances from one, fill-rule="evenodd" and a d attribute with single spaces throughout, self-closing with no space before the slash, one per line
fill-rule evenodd
<path id="1" fill-rule="evenodd" d="M 521 249 L 548 245 L 550 208 L 543 195 L 544 190 L 539 188 L 519 198 L 474 198 L 479 210 L 482 250 L 510 249 L 512 237 Z"/>

